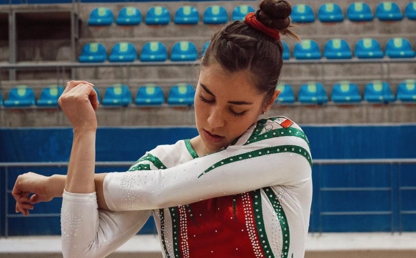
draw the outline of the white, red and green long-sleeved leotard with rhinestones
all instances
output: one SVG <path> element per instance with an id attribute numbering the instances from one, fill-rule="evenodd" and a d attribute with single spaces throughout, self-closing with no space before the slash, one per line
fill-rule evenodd
<path id="1" fill-rule="evenodd" d="M 164 257 L 303 257 L 312 158 L 302 129 L 259 120 L 230 146 L 198 157 L 189 140 L 160 145 L 95 193 L 64 193 L 64 257 L 104 257 L 151 212 Z"/>

